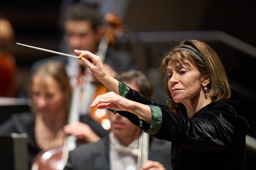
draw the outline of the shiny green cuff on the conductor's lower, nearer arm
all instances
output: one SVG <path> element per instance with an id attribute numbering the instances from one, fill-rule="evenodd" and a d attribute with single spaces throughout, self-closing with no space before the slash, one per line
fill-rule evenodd
<path id="1" fill-rule="evenodd" d="M 152 111 L 152 121 L 151 121 L 151 125 L 148 128 L 146 128 L 146 126 L 143 127 L 143 123 L 145 123 L 145 121 L 143 121 L 142 119 L 140 119 L 140 128 L 151 135 L 155 135 L 159 132 L 162 122 L 163 122 L 163 115 L 162 115 L 162 111 L 158 106 L 154 106 L 154 105 L 148 105 L 151 108 Z"/>

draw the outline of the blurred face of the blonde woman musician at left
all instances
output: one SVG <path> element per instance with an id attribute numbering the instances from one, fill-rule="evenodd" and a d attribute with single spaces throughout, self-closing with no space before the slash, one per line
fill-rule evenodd
<path id="1" fill-rule="evenodd" d="M 65 111 L 66 97 L 55 79 L 34 77 L 31 92 L 36 112 L 54 115 Z"/>

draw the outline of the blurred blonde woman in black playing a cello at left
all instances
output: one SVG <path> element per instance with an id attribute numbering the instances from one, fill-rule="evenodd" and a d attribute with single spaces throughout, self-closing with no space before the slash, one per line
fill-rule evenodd
<path id="1" fill-rule="evenodd" d="M 35 156 L 40 151 L 63 145 L 66 136 L 64 127 L 67 125 L 71 96 L 71 85 L 63 64 L 49 60 L 39 69 L 42 74 L 32 77 L 29 88 L 29 96 L 32 99 L 29 105 L 32 112 L 13 114 L 11 119 L 0 126 L 0 135 L 27 133 L 29 167 L 32 166 Z M 78 136 L 80 139 L 108 135 L 108 131 L 96 122 L 88 121 L 87 124 L 82 125 L 84 126 L 81 128 L 90 126 L 93 130 L 88 127 L 84 133 L 69 131 L 69 134 Z"/>

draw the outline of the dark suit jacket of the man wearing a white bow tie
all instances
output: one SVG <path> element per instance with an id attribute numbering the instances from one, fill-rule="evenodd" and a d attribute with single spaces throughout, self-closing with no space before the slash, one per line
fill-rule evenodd
<path id="1" fill-rule="evenodd" d="M 109 138 L 101 142 L 82 144 L 69 153 L 64 170 L 110 170 Z M 148 159 L 159 161 L 166 170 L 172 170 L 171 142 L 151 136 Z"/>

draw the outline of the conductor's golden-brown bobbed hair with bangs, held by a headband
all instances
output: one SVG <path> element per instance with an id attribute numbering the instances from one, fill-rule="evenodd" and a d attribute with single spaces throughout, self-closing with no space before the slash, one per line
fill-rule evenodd
<path id="1" fill-rule="evenodd" d="M 180 46 L 190 46 L 188 50 L 179 49 Z M 191 51 L 192 52 L 189 52 Z M 202 57 L 202 60 L 198 57 Z M 221 63 L 218 54 L 205 42 L 198 40 L 183 40 L 174 44 L 174 47 L 164 54 L 164 57 L 160 64 L 160 70 L 165 73 L 164 89 L 167 95 L 169 108 L 172 112 L 181 112 L 180 108 L 175 107 L 175 103 L 172 99 L 171 93 L 168 89 L 168 79 L 166 75 L 166 68 L 169 64 L 182 64 L 185 61 L 189 61 L 194 65 L 201 73 L 202 77 L 210 79 L 209 89 L 207 95 L 213 102 L 217 102 L 221 99 L 229 99 L 231 95 L 230 86 L 228 84 L 227 74 L 224 66 Z"/>

